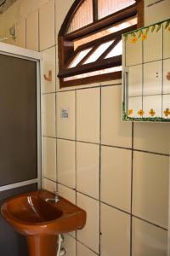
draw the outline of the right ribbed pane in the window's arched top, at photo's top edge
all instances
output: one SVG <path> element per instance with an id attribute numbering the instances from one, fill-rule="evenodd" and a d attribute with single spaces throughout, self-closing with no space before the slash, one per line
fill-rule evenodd
<path id="1" fill-rule="evenodd" d="M 99 19 L 116 13 L 135 3 L 135 0 L 98 0 Z"/>

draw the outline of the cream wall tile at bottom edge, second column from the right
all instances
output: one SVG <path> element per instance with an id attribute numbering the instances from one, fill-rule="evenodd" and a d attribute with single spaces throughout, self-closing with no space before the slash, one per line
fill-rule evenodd
<path id="1" fill-rule="evenodd" d="M 101 256 L 130 256 L 130 216 L 127 213 L 101 204 L 101 234 Z"/>

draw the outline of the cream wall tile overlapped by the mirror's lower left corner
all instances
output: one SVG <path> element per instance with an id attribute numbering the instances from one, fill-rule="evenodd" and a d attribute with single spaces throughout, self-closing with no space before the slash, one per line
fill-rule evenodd
<path id="1" fill-rule="evenodd" d="M 102 144 L 132 148 L 132 124 L 122 122 L 122 86 L 108 86 L 101 91 Z"/>

